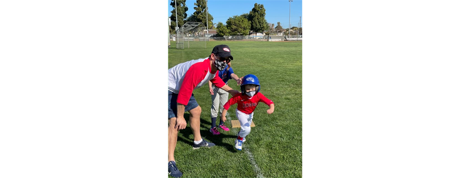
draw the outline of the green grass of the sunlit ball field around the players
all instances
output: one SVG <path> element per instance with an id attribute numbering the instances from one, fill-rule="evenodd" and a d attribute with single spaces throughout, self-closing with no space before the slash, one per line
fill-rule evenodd
<path id="1" fill-rule="evenodd" d="M 216 144 L 212 148 L 192 150 L 194 136 L 188 127 L 178 134 L 175 159 L 184 178 L 301 178 L 303 177 L 303 42 L 268 41 L 209 41 L 207 49 L 176 49 L 171 41 L 168 49 L 168 69 L 192 59 L 206 58 L 218 44 L 227 44 L 232 50 L 232 67 L 238 77 L 254 74 L 261 84 L 261 93 L 275 104 L 268 115 L 268 106 L 262 102 L 255 110 L 256 127 L 246 137 L 243 151 L 236 151 L 234 141 L 239 128 L 213 136 L 211 127 L 211 94 L 203 86 L 193 94 L 202 108 L 201 135 Z M 240 90 L 235 80 L 229 86 Z M 231 97 L 231 96 L 230 96 Z M 229 97 L 229 98 L 230 98 Z M 236 104 L 228 111 L 235 117 Z M 217 118 L 217 123 L 219 118 Z M 249 150 L 259 169 L 250 161 Z M 168 176 L 169 178 L 169 176 Z"/>

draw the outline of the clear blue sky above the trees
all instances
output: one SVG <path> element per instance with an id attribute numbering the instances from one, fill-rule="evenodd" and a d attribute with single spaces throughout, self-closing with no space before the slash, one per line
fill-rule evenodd
<path id="1" fill-rule="evenodd" d="M 171 11 L 174 7 L 170 6 L 171 0 L 168 0 L 168 17 L 171 16 Z M 188 17 L 194 13 L 194 3 L 196 0 L 186 0 L 188 7 Z M 281 22 L 283 28 L 288 28 L 289 24 L 289 0 L 208 0 L 207 6 L 209 13 L 214 17 L 213 23 L 225 22 L 230 17 L 235 15 L 239 16 L 244 13 L 250 13 L 251 9 L 255 7 L 255 3 L 263 4 L 266 9 L 266 20 L 268 23 L 274 23 L 275 26 Z M 299 21 L 302 17 L 302 25 L 304 26 L 303 16 L 303 0 L 293 0 L 290 2 L 290 24 L 291 26 L 299 26 Z"/>

